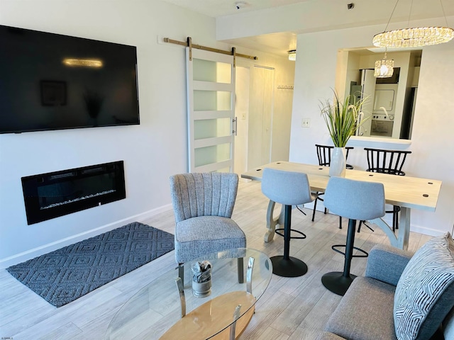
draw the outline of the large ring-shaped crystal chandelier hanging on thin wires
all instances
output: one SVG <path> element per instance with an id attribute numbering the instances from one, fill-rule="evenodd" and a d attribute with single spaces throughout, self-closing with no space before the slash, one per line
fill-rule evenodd
<path id="1" fill-rule="evenodd" d="M 389 21 L 391 21 L 392 14 L 396 9 L 397 3 L 399 0 L 396 1 L 394 5 L 394 9 L 392 10 L 391 17 L 389 17 Z M 411 1 L 413 4 L 413 1 Z M 441 0 L 440 0 L 441 4 Z M 441 4 L 441 9 L 444 9 L 443 4 Z M 411 13 L 411 8 L 410 8 Z M 432 26 L 432 27 L 417 27 L 417 28 L 401 28 L 399 30 L 389 30 L 387 31 L 389 21 L 387 23 L 386 28 L 384 28 L 384 32 L 378 33 L 374 35 L 372 39 L 372 43 L 377 47 L 423 47 L 428 45 L 436 45 L 441 44 L 443 42 L 448 42 L 454 38 L 454 30 L 453 28 L 449 27 L 440 27 L 440 26 Z M 445 16 L 446 21 L 446 16 Z M 448 26 L 448 23 L 446 23 Z"/>

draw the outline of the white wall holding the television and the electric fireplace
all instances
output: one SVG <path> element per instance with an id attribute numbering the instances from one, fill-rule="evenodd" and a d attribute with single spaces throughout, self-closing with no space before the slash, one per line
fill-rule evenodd
<path id="1" fill-rule="evenodd" d="M 168 178 L 187 171 L 186 70 L 184 48 L 157 36 L 230 50 L 214 18 L 155 0 L 1 0 L 0 24 L 137 46 L 140 101 L 140 125 L 0 135 L 0 268 L 170 209 Z M 125 200 L 27 225 L 22 176 L 121 159 Z"/>

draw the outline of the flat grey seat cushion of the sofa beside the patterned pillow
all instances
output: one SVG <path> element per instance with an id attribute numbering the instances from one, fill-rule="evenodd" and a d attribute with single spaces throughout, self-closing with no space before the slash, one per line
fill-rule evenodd
<path id="1" fill-rule="evenodd" d="M 355 278 L 325 330 L 350 340 L 396 340 L 394 290 L 394 285 L 373 278 Z"/>

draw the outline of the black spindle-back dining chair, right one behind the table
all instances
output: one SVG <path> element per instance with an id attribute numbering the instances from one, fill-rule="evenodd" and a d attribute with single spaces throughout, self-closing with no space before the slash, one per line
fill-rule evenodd
<path id="1" fill-rule="evenodd" d="M 405 176 L 402 167 L 404 166 L 406 156 L 411 154 L 411 151 L 372 149 L 370 147 L 365 147 L 364 149 L 367 154 L 366 171 Z M 399 211 L 400 207 L 397 205 L 393 205 L 392 210 L 387 210 L 387 213 L 392 214 L 393 232 L 399 229 Z M 364 224 L 364 221 L 361 221 L 358 225 L 358 232 L 360 232 L 362 224 Z"/>

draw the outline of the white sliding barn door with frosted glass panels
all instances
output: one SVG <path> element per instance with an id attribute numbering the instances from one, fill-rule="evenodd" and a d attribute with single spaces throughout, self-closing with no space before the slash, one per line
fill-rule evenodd
<path id="1" fill-rule="evenodd" d="M 187 61 L 189 172 L 233 172 L 233 55 L 192 49 Z"/>

